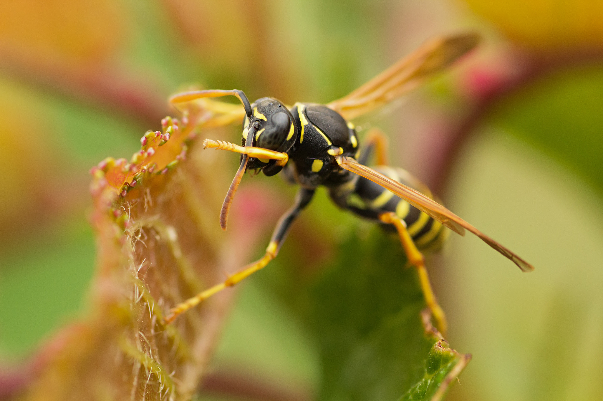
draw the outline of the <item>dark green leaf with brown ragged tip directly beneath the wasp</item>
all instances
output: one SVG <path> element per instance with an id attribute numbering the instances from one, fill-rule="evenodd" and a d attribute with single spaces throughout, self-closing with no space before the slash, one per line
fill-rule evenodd
<path id="1" fill-rule="evenodd" d="M 355 231 L 294 301 L 318 346 L 318 399 L 441 399 L 470 355 L 450 349 L 432 327 L 397 237 L 379 227 Z"/>

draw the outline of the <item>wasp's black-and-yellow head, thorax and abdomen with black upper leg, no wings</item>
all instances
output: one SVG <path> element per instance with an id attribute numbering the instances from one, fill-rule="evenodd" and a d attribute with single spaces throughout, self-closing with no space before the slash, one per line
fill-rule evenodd
<path id="1" fill-rule="evenodd" d="M 371 146 L 359 152 L 355 127 L 337 112 L 315 103 L 296 103 L 287 109 L 282 102 L 270 97 L 256 100 L 251 109 L 253 115 L 246 117 L 243 124 L 243 145 L 250 138 L 253 143 L 249 145 L 285 152 L 289 161 L 283 168 L 275 161 L 250 158 L 247 170 L 262 168 L 267 176 L 283 170 L 289 182 L 301 186 L 295 207 L 289 215 L 283 216 L 279 229 L 274 233 L 273 240 L 279 243 L 279 247 L 291 223 L 320 185 L 329 189 L 330 197 L 339 207 L 378 222 L 387 229 L 394 230 L 394 227 L 380 222 L 378 216 L 384 212 L 395 212 L 405 221 L 419 248 L 439 248 L 446 239 L 447 230 L 440 222 L 377 183 L 339 167 L 336 155 L 351 156 L 366 165 Z M 405 170 L 387 166 L 374 169 L 432 197 L 429 189 Z"/>

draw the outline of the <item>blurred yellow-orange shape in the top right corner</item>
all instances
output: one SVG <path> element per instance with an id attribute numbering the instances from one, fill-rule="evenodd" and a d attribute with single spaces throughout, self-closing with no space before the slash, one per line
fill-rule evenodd
<path id="1" fill-rule="evenodd" d="M 511 40 L 538 51 L 603 46 L 600 0 L 465 0 Z"/>

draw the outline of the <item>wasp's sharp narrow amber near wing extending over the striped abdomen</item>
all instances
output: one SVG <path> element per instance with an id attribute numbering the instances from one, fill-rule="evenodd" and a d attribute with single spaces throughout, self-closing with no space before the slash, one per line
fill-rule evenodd
<path id="1" fill-rule="evenodd" d="M 356 173 L 359 176 L 364 177 L 365 179 L 371 180 L 374 183 L 379 184 L 385 189 L 389 189 L 394 194 L 398 195 L 400 198 L 408 201 L 408 203 L 412 204 L 412 206 L 421 210 L 421 212 L 425 212 L 432 218 L 446 225 L 446 227 L 450 228 L 450 230 L 455 231 L 458 234 L 464 235 L 465 229 L 471 231 L 473 234 L 481 238 L 485 243 L 490 245 L 492 248 L 496 249 L 503 256 L 511 259 L 520 269 L 524 272 L 529 272 L 534 270 L 534 267 L 530 265 L 528 262 L 517 256 L 515 253 L 510 251 L 510 249 L 505 248 L 505 246 L 500 245 L 500 243 L 491 239 L 477 228 L 473 227 L 473 225 L 461 219 L 459 216 L 450 212 L 450 210 L 446 209 L 446 207 L 427 197 L 426 195 L 421 194 L 415 189 L 410 188 L 402 183 L 394 181 L 387 176 L 384 176 L 377 171 L 374 171 L 372 168 L 366 167 L 365 165 L 359 164 L 352 158 L 347 158 L 345 156 L 336 156 L 336 160 L 338 164 L 345 168 L 348 171 L 352 171 L 352 173 Z"/>

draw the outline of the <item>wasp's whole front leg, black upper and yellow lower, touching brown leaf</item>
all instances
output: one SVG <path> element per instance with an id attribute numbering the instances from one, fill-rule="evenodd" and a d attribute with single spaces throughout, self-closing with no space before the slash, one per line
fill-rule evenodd
<path id="1" fill-rule="evenodd" d="M 281 216 L 279 222 L 274 227 L 274 231 L 272 234 L 272 238 L 268 247 L 266 248 L 266 253 L 262 258 L 256 260 L 256 262 L 250 263 L 245 266 L 235 274 L 231 275 L 227 278 L 223 283 L 216 284 L 213 287 L 210 287 L 207 290 L 204 290 L 192 298 L 187 299 L 184 302 L 176 305 L 174 308 L 169 310 L 168 316 L 165 317 L 165 323 L 171 323 L 178 317 L 178 315 L 185 313 L 189 309 L 198 305 L 201 301 L 209 298 L 212 295 L 220 292 L 221 290 L 232 287 L 239 281 L 244 278 L 250 276 L 251 274 L 263 269 L 268 265 L 268 263 L 273 260 L 277 254 L 279 253 L 280 246 L 285 242 L 285 238 L 289 233 L 289 228 L 291 228 L 291 224 L 295 221 L 295 218 L 299 215 L 301 210 L 303 210 L 310 201 L 312 200 L 312 196 L 314 195 L 314 189 L 304 189 L 300 188 L 297 192 L 297 196 L 295 197 L 295 203 L 291 206 L 291 209 L 287 210 L 287 212 Z"/>

